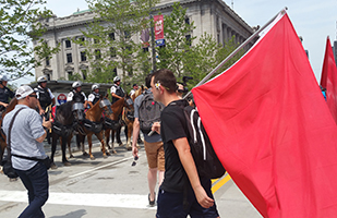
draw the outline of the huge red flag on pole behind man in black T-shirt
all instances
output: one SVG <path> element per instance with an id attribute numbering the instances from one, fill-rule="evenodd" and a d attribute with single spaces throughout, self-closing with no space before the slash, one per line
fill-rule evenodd
<path id="1" fill-rule="evenodd" d="M 337 126 L 286 13 L 192 93 L 215 152 L 261 215 L 337 216 Z"/>

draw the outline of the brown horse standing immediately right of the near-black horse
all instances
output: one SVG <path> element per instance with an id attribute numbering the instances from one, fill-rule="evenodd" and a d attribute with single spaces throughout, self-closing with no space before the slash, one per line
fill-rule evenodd
<path id="1" fill-rule="evenodd" d="M 104 104 L 107 101 L 109 102 L 108 106 L 107 104 Z M 95 159 L 92 153 L 93 134 L 95 134 L 98 141 L 100 142 L 100 145 L 101 145 L 100 149 L 103 153 L 103 157 L 107 158 L 107 155 L 110 155 L 109 150 L 106 149 L 106 146 L 103 140 L 103 131 L 101 131 L 103 130 L 103 121 L 101 121 L 103 112 L 105 113 L 105 116 L 109 116 L 111 113 L 109 112 L 110 110 L 108 107 L 110 107 L 110 101 L 107 98 L 104 98 L 104 99 L 100 98 L 99 101 L 97 101 L 93 108 L 88 109 L 85 112 L 85 121 L 79 128 L 80 134 L 77 135 L 79 136 L 77 143 L 80 143 L 80 145 L 82 146 L 82 152 L 85 153 L 84 152 L 84 138 L 85 136 L 87 136 L 91 159 Z"/>

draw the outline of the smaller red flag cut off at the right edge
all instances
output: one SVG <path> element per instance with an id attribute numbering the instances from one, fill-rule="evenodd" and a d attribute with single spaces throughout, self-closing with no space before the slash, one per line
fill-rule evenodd
<path id="1" fill-rule="evenodd" d="M 329 37 L 326 39 L 321 86 L 326 88 L 326 104 L 337 123 L 337 68 Z"/>

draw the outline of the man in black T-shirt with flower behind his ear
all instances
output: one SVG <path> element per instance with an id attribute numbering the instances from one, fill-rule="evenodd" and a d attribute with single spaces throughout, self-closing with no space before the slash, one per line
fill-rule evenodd
<path id="1" fill-rule="evenodd" d="M 200 177 L 191 154 L 184 113 L 188 102 L 177 96 L 174 74 L 167 69 L 154 72 L 151 87 L 154 99 L 166 106 L 160 123 L 153 125 L 161 135 L 165 149 L 165 177 L 159 187 L 156 217 L 219 217 L 210 178 Z"/>

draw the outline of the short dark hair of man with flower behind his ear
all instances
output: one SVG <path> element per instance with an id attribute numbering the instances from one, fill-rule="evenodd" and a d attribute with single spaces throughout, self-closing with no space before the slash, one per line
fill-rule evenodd
<path id="1" fill-rule="evenodd" d="M 160 83 L 163 87 L 165 87 L 168 93 L 176 93 L 177 89 L 177 80 L 172 71 L 168 69 L 161 69 L 153 73 L 154 83 Z"/>

